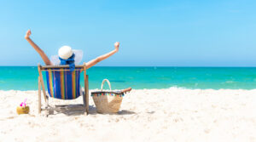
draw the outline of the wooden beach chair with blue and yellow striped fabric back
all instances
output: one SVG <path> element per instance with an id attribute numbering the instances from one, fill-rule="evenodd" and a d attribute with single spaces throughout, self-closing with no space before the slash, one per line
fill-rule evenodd
<path id="1" fill-rule="evenodd" d="M 43 73 L 45 72 L 48 94 L 44 88 Z M 80 87 L 80 74 L 84 71 L 84 92 Z M 49 106 L 49 98 L 76 99 L 83 95 L 85 115 L 89 113 L 89 88 L 86 65 L 76 65 L 74 71 L 70 71 L 68 65 L 44 65 L 38 64 L 38 112 L 46 111 L 47 115 L 52 107 Z M 41 105 L 41 88 L 43 88 L 46 107 Z"/>

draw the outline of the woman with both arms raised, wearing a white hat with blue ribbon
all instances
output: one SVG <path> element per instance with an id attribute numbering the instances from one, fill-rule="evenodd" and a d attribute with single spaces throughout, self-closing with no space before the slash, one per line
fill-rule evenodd
<path id="1" fill-rule="evenodd" d="M 44 54 L 44 51 L 38 47 L 36 43 L 32 41 L 30 38 L 31 31 L 28 30 L 26 31 L 25 39 L 28 43 L 32 45 L 32 47 L 40 54 L 42 59 L 44 60 L 45 65 L 53 65 L 53 63 L 49 60 L 46 54 Z M 91 66 L 96 65 L 98 62 L 102 60 L 106 60 L 108 57 L 112 56 L 113 54 L 117 53 L 119 51 L 119 42 L 114 43 L 114 48 L 113 51 L 109 52 L 108 54 L 103 54 L 99 57 L 97 57 L 94 60 L 90 60 L 89 62 L 86 63 L 87 69 L 89 69 Z M 68 46 L 63 46 L 59 49 L 59 59 L 61 61 L 61 65 L 67 65 L 69 64 L 69 61 L 71 63 L 74 63 L 74 54 L 72 48 Z M 74 64 L 73 64 L 74 65 Z"/>

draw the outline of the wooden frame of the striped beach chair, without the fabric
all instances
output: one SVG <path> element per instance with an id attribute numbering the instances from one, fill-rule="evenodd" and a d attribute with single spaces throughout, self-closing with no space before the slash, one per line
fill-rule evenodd
<path id="1" fill-rule="evenodd" d="M 46 94 L 45 88 L 44 88 L 44 79 L 43 79 L 43 74 L 42 71 L 47 71 L 47 69 L 62 69 L 65 71 L 69 71 L 69 65 L 40 65 L 38 64 L 38 113 L 40 114 L 41 111 L 46 111 L 46 116 L 49 115 L 50 110 L 55 110 L 51 109 L 49 106 L 49 95 Z M 85 113 L 84 115 L 89 114 L 89 83 L 88 83 L 88 75 L 86 75 L 86 64 L 84 63 L 83 65 L 75 65 L 75 70 L 81 70 L 84 71 L 84 93 L 82 90 L 80 90 L 80 93 L 83 94 L 83 101 L 84 101 L 84 107 L 85 107 Z M 60 70 L 58 70 L 60 71 Z M 43 94 L 44 94 L 44 100 L 46 103 L 46 107 L 42 108 L 42 102 L 41 102 L 41 88 L 43 88 Z"/>

